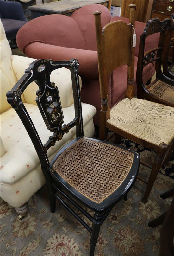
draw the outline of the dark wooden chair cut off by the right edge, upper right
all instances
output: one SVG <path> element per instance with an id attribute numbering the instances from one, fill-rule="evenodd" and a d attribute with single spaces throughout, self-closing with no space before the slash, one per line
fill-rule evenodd
<path id="1" fill-rule="evenodd" d="M 167 77 L 170 77 L 174 80 L 174 37 L 171 38 L 171 32 L 174 30 L 174 13 L 171 15 L 171 29 L 167 34 L 167 38 L 165 40 L 166 52 L 165 52 L 165 58 L 163 58 L 163 72 Z M 169 42 L 170 41 L 170 45 Z M 172 63 L 171 66 L 168 68 L 168 52 L 171 51 L 171 57 L 172 57 Z"/>

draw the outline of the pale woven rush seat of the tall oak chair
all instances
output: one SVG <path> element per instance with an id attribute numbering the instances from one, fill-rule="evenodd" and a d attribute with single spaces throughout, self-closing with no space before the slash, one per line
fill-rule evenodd
<path id="1" fill-rule="evenodd" d="M 107 123 L 158 146 L 174 139 L 174 108 L 143 99 L 123 99 Z"/>

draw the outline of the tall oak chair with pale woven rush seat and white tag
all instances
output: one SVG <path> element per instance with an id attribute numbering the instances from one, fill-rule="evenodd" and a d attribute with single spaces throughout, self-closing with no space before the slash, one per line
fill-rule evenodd
<path id="1" fill-rule="evenodd" d="M 134 27 L 135 4 L 130 7 L 130 23 Z M 174 108 L 158 103 L 133 98 L 134 96 L 134 47 L 132 25 L 124 21 L 107 24 L 103 30 L 101 12 L 94 12 L 98 47 L 98 67 L 100 79 L 101 105 L 99 139 L 107 138 L 107 130 L 119 136 L 155 150 L 157 155 L 152 168 L 146 192 L 142 198 L 147 202 L 158 171 L 170 155 L 174 144 Z M 164 26 L 168 21 L 161 24 Z M 126 98 L 110 108 L 108 75 L 117 67 L 127 64 Z"/>

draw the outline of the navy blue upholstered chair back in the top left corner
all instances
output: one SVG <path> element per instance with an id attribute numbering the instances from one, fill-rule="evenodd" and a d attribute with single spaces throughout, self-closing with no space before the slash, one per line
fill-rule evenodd
<path id="1" fill-rule="evenodd" d="M 3 19 L 27 21 L 19 2 L 0 1 L 0 12 Z"/>

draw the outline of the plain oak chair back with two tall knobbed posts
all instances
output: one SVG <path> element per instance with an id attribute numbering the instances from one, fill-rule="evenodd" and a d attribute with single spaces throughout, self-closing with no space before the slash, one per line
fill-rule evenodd
<path id="1" fill-rule="evenodd" d="M 133 31 L 135 20 L 135 4 L 130 5 L 130 25 L 124 21 L 114 21 L 102 30 L 101 11 L 94 12 L 96 24 L 96 40 L 98 54 L 98 68 L 100 80 L 100 96 L 103 111 L 109 112 L 108 75 L 117 67 L 127 64 L 127 92 L 126 97 L 134 95 L 134 47 Z"/>

